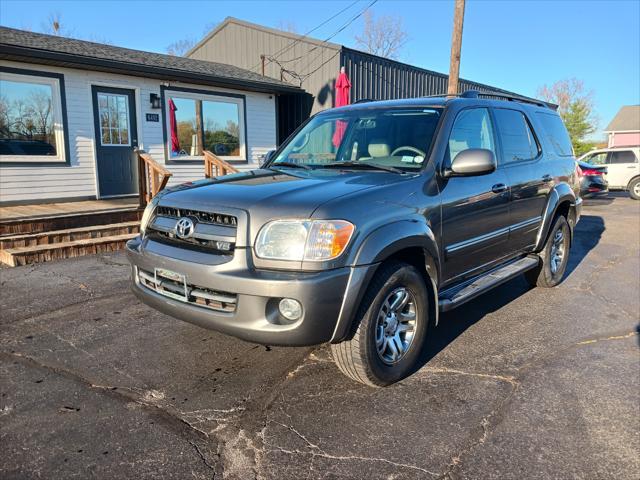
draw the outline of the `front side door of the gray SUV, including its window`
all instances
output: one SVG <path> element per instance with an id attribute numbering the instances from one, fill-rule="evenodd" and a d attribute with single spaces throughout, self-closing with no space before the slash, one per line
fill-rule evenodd
<path id="1" fill-rule="evenodd" d="M 449 135 L 445 166 L 469 148 L 485 148 L 497 155 L 487 108 L 458 113 Z M 504 169 L 498 166 L 488 175 L 445 179 L 440 196 L 445 286 L 489 269 L 507 253 L 509 186 Z"/>

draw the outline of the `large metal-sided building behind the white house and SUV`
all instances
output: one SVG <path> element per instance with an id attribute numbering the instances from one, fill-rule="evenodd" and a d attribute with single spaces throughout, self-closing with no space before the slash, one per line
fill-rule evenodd
<path id="1" fill-rule="evenodd" d="M 448 83 L 443 73 L 233 17 L 214 28 L 187 56 L 235 65 L 302 87 L 310 95 L 306 99 L 278 97 L 280 140 L 309 114 L 334 106 L 334 82 L 341 67 L 351 80 L 351 103 L 444 94 Z M 458 90 L 518 96 L 464 79 Z"/>

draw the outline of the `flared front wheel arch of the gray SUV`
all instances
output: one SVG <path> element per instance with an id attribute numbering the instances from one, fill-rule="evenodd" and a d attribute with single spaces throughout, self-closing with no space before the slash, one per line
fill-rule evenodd
<path id="1" fill-rule="evenodd" d="M 428 287 L 433 296 L 431 314 L 435 316 L 435 324 L 438 324 L 440 259 L 435 236 L 424 221 L 401 220 L 377 228 L 354 249 L 350 259 L 352 272 L 331 338 L 332 343 L 340 342 L 350 335 L 357 309 L 378 266 L 407 248 L 421 248 L 424 252 L 425 269 L 430 282 Z"/>

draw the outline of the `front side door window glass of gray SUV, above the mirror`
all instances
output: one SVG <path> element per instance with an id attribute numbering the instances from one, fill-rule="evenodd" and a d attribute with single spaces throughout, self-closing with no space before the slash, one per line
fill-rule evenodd
<path id="1" fill-rule="evenodd" d="M 486 108 L 461 111 L 449 136 L 449 164 L 456 155 L 469 148 L 484 148 L 495 154 L 493 126 Z"/>

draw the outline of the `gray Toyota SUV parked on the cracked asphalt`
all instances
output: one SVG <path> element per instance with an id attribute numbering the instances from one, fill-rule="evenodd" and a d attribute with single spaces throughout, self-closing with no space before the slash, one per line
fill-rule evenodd
<path id="1" fill-rule="evenodd" d="M 250 342 L 328 342 L 365 384 L 402 379 L 440 312 L 567 267 L 582 201 L 565 127 L 482 97 L 324 111 L 260 169 L 163 191 L 127 244 L 133 291 Z"/>

